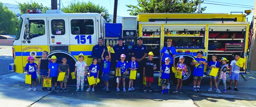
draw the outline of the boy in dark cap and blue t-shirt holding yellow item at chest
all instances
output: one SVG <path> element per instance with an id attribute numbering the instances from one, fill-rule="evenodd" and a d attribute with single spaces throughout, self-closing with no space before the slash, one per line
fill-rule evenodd
<path id="1" fill-rule="evenodd" d="M 202 58 L 203 52 L 202 51 L 198 51 L 196 52 L 197 57 L 194 59 L 196 60 L 196 62 L 191 62 L 190 65 L 195 65 L 198 64 L 199 65 L 197 67 L 194 66 L 194 71 L 193 71 L 193 76 L 194 76 L 194 81 L 193 81 L 193 90 L 194 91 L 200 91 L 200 83 L 201 80 L 203 78 L 204 75 L 204 66 L 206 66 L 208 63 L 206 61 L 206 59 Z M 197 86 L 196 86 L 197 84 Z"/>

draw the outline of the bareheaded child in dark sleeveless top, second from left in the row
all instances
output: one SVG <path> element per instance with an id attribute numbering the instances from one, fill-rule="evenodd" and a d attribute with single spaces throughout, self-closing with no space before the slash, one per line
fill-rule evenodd
<path id="1" fill-rule="evenodd" d="M 49 61 L 51 60 L 49 57 L 47 57 L 48 52 L 43 51 L 42 57 L 38 60 L 38 74 L 41 75 L 41 85 L 42 85 L 42 91 L 48 91 L 47 87 L 44 86 L 44 77 L 47 77 L 48 75 L 48 65 Z"/>

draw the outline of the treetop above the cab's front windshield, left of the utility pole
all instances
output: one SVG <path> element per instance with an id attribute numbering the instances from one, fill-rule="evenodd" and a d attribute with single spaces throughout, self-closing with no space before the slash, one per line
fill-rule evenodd
<path id="1" fill-rule="evenodd" d="M 46 10 L 48 10 L 48 8 L 46 6 L 44 6 L 42 3 L 39 5 L 36 2 L 32 2 L 30 1 L 30 3 L 28 2 L 26 3 L 19 3 L 19 9 L 20 9 L 20 14 L 26 14 L 28 13 L 28 10 L 37 10 L 43 13 L 46 13 Z"/>

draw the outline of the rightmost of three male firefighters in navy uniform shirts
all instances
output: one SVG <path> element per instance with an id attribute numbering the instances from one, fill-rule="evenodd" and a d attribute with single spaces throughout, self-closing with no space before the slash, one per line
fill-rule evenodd
<path id="1" fill-rule="evenodd" d="M 134 55 L 137 59 L 137 62 L 139 64 L 138 67 L 138 72 L 140 73 L 140 86 L 143 87 L 143 65 L 144 65 L 144 58 L 147 56 L 148 54 L 148 50 L 146 48 L 146 46 L 144 46 L 142 44 L 143 42 L 143 38 L 139 37 L 137 39 L 137 45 L 132 47 L 132 55 Z"/>

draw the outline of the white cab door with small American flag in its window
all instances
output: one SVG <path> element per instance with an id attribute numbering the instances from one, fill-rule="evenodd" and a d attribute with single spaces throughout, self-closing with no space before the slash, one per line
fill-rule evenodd
<path id="1" fill-rule="evenodd" d="M 49 44 L 50 45 L 69 45 L 69 22 L 68 17 L 47 18 L 49 25 Z"/>

